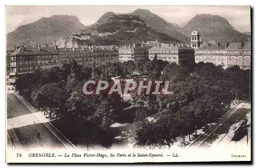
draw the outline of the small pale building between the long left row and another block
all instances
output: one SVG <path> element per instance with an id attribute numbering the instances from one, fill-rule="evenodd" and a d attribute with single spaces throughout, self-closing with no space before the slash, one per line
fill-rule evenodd
<path id="1" fill-rule="evenodd" d="M 141 45 L 136 45 L 135 43 L 131 46 L 129 43 L 129 46 L 121 46 L 118 49 L 119 53 L 119 61 L 125 62 L 125 61 L 140 61 L 140 60 L 146 60 L 148 59 L 148 47 Z"/>

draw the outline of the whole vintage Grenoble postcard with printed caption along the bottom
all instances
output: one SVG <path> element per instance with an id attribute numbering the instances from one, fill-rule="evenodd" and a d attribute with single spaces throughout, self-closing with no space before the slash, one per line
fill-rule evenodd
<path id="1" fill-rule="evenodd" d="M 6 162 L 251 161 L 250 6 L 6 6 Z"/>

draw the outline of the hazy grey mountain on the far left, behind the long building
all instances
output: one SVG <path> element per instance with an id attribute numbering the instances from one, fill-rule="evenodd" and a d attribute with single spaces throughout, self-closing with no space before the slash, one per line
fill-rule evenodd
<path id="1" fill-rule="evenodd" d="M 7 47 L 14 45 L 52 44 L 55 39 L 70 36 L 72 32 L 86 28 L 76 16 L 52 15 L 42 17 L 27 25 L 19 26 L 7 34 Z"/>

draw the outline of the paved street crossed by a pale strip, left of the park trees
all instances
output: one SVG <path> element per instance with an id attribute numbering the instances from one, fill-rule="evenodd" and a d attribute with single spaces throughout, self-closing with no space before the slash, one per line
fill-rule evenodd
<path id="1" fill-rule="evenodd" d="M 24 100 L 20 101 L 13 92 L 7 93 L 7 119 L 8 136 L 13 139 L 15 148 L 67 148 L 60 133 L 39 112 L 33 113 L 32 107 Z"/>

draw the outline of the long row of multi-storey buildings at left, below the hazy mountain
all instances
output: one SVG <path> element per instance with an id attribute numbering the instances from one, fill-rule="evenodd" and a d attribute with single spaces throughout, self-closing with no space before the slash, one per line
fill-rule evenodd
<path id="1" fill-rule="evenodd" d="M 104 64 L 118 61 L 115 46 L 88 46 L 61 48 L 54 46 L 19 46 L 9 55 L 10 76 L 31 73 L 36 69 L 50 69 L 62 66 L 73 59 L 81 65 Z"/>

